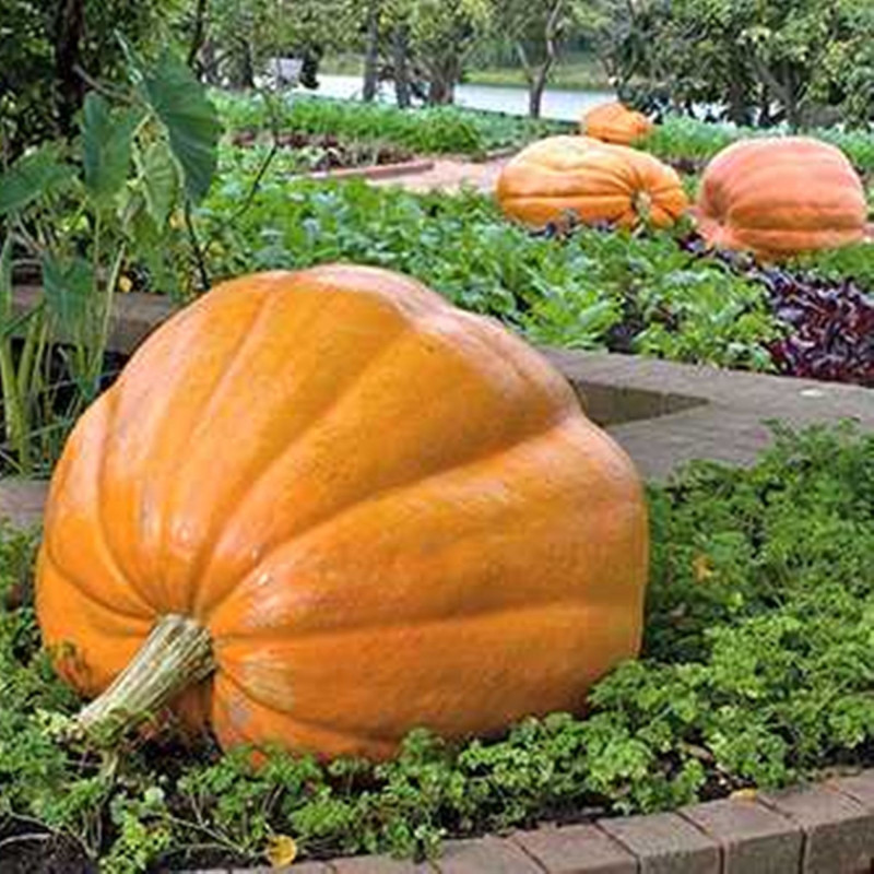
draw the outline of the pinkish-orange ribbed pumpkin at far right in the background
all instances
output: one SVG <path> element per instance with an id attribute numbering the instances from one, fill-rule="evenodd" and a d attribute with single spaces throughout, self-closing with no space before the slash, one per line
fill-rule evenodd
<path id="1" fill-rule="evenodd" d="M 713 246 L 780 257 L 857 243 L 865 192 L 834 145 L 806 137 L 741 140 L 707 166 L 696 204 Z"/>

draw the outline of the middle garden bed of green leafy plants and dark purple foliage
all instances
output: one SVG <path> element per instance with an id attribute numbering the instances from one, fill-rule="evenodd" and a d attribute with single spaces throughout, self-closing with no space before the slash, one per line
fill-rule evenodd
<path id="1" fill-rule="evenodd" d="M 874 246 L 763 268 L 673 233 L 532 234 L 473 192 L 265 180 L 251 210 L 220 185 L 203 227 L 217 276 L 330 260 L 409 273 L 536 343 L 874 385 Z"/>

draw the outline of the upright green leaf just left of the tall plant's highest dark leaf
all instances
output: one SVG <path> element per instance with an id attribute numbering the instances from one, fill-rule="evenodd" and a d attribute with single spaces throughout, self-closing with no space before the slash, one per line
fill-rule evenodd
<path id="1" fill-rule="evenodd" d="M 82 116 L 85 187 L 95 200 L 105 203 L 128 177 L 131 139 L 143 113 L 131 108 L 113 111 L 102 95 L 91 92 Z"/>

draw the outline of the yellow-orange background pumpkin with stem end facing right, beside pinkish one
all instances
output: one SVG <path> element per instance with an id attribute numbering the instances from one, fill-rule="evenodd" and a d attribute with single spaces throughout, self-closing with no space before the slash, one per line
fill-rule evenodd
<path id="1" fill-rule="evenodd" d="M 500 172 L 504 212 L 541 227 L 567 213 L 584 224 L 665 227 L 688 205 L 676 172 L 646 152 L 587 137 L 550 137 L 523 149 Z"/>

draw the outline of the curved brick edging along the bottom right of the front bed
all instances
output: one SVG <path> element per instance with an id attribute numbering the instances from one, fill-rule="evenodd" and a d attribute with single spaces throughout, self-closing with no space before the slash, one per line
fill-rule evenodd
<path id="1" fill-rule="evenodd" d="M 438 859 L 359 855 L 287 874 L 862 874 L 874 861 L 874 769 L 673 813 L 449 840 Z M 259 869 L 234 869 L 235 874 Z M 260 869 L 263 871 L 263 869 Z M 218 874 L 216 870 L 199 874 Z"/>

